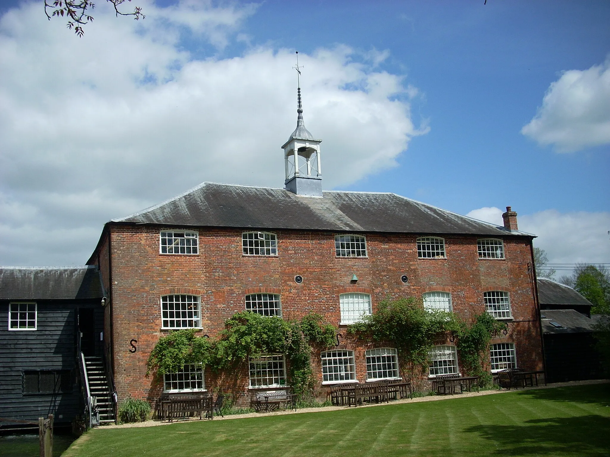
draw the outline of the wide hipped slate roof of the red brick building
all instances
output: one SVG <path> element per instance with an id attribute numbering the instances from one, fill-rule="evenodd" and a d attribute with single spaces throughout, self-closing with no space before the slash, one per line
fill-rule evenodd
<path id="1" fill-rule="evenodd" d="M 529 236 L 393 193 L 325 191 L 307 197 L 284 189 L 204 182 L 159 205 L 110 222 L 329 230 Z"/>

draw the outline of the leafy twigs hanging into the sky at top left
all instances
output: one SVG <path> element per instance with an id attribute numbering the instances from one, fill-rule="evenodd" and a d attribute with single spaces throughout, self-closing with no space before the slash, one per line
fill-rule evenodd
<path id="1" fill-rule="evenodd" d="M 145 18 L 142 14 L 142 8 L 139 6 L 135 7 L 132 13 L 123 13 L 119 10 L 119 7 L 125 0 L 106 1 L 113 5 L 117 17 L 134 16 L 135 20 Z M 131 0 L 127 1 L 131 2 Z M 49 21 L 52 17 L 63 18 L 65 16 L 68 19 L 68 29 L 74 29 L 74 33 L 79 37 L 82 37 L 85 33 L 82 26 L 93 21 L 91 11 L 94 8 L 95 4 L 90 0 L 45 0 L 45 14 Z M 49 12 L 51 12 L 51 15 L 49 15 Z"/>

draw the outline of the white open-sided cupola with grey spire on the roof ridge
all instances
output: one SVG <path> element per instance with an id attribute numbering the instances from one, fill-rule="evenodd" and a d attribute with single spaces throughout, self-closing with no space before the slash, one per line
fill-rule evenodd
<path id="1" fill-rule="evenodd" d="M 322 171 L 320 168 L 320 143 L 305 128 L 301 88 L 297 90 L 298 109 L 296 129 L 282 149 L 286 169 L 285 190 L 297 195 L 322 196 Z"/>

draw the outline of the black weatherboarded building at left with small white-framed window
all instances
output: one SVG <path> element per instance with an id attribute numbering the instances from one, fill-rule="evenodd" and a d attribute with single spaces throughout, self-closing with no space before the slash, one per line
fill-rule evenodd
<path id="1" fill-rule="evenodd" d="M 83 414 L 78 349 L 102 355 L 102 297 L 95 266 L 0 267 L 0 417 Z"/>

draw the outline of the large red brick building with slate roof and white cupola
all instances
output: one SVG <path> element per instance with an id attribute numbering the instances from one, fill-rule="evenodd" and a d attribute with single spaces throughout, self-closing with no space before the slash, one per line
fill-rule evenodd
<path id="1" fill-rule="evenodd" d="M 105 225 L 88 264 L 109 291 L 104 338 L 118 398 L 215 386 L 194 366 L 161 383 L 146 377 L 149 353 L 173 328 L 213 337 L 238 311 L 314 311 L 345 335 L 387 296 L 422 297 L 464 319 L 487 310 L 508 323 L 488 368 L 541 370 L 533 235 L 519 232 L 517 214 L 508 207 L 496 227 L 392 193 L 322 192 L 321 141 L 301 113 L 282 146 L 285 189 L 203 183 Z M 454 342 L 439 341 L 430 356 L 430 378 L 461 369 Z M 318 389 L 405 375 L 392 347 L 346 338 L 312 360 Z M 243 399 L 287 383 L 279 354 L 238 371 L 230 383 Z"/>

